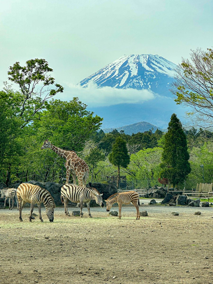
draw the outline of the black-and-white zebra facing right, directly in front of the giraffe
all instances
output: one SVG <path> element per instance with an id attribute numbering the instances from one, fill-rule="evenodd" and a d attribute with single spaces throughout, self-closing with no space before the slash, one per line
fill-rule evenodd
<path id="1" fill-rule="evenodd" d="M 71 202 L 80 202 L 80 217 L 82 216 L 82 208 L 83 208 L 83 202 L 87 204 L 87 209 L 89 213 L 89 217 L 92 217 L 90 214 L 90 201 L 95 200 L 98 205 L 101 207 L 104 207 L 103 201 L 102 201 L 102 194 L 97 191 L 97 189 L 90 187 L 84 187 L 84 186 L 78 186 L 74 184 L 65 184 L 61 188 L 61 202 L 64 203 L 64 210 L 65 214 L 67 216 L 70 216 L 68 209 L 67 209 L 67 203 L 68 200 Z"/>

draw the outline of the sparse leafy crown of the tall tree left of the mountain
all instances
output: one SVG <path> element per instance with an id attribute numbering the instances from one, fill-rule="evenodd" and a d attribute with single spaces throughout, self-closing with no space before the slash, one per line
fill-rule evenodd
<path id="1" fill-rule="evenodd" d="M 16 115 L 22 118 L 22 128 L 32 122 L 36 114 L 36 119 L 39 119 L 45 102 L 63 92 L 61 85 L 54 84 L 55 79 L 49 74 L 52 71 L 45 59 L 37 58 L 27 60 L 26 66 L 16 62 L 9 67 L 8 79 L 19 87 L 16 93 Z"/>

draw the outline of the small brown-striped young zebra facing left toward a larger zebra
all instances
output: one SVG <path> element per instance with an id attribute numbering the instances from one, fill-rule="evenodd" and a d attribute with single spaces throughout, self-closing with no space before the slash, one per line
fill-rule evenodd
<path id="1" fill-rule="evenodd" d="M 140 206 L 140 200 L 139 195 L 135 191 L 126 191 L 121 193 L 115 193 L 111 195 L 106 201 L 106 211 L 108 212 L 112 208 L 112 204 L 118 203 L 119 207 L 119 219 L 121 218 L 121 207 L 123 204 L 132 204 L 135 206 L 137 210 L 137 217 L 136 220 L 140 219 L 140 213 L 139 213 L 139 207 Z"/>

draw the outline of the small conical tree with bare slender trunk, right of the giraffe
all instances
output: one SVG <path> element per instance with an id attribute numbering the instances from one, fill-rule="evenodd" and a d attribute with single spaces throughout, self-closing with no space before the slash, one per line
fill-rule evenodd
<path id="1" fill-rule="evenodd" d="M 112 147 L 112 152 L 109 154 L 109 161 L 114 166 L 118 167 L 118 179 L 117 179 L 117 188 L 120 181 L 120 166 L 126 168 L 130 162 L 130 156 L 128 155 L 128 150 L 126 147 L 126 141 L 118 136 L 115 140 L 115 143 Z"/>

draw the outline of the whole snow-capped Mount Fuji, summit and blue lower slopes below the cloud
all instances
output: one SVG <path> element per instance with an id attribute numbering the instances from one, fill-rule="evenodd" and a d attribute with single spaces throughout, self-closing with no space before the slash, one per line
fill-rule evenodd
<path id="1" fill-rule="evenodd" d="M 154 99 L 143 103 L 121 101 L 117 105 L 94 107 L 93 111 L 104 118 L 103 128 L 120 127 L 139 121 L 167 128 L 172 113 L 175 112 L 179 118 L 184 115 L 183 108 L 176 105 L 169 91 L 176 67 L 176 64 L 159 55 L 124 55 L 83 79 L 79 84 L 83 88 L 95 83 L 97 89 L 111 87 L 148 90 L 150 94 L 154 93 Z M 131 92 L 131 96 L 134 96 L 134 93 Z"/>

